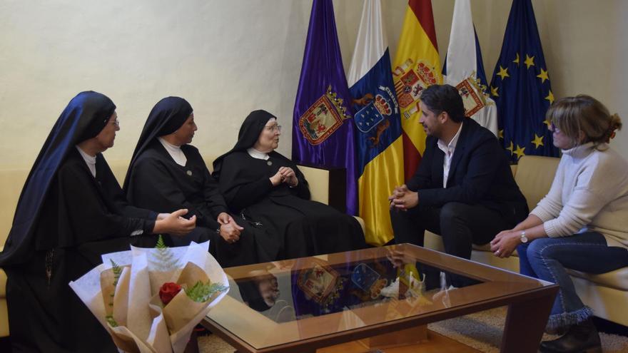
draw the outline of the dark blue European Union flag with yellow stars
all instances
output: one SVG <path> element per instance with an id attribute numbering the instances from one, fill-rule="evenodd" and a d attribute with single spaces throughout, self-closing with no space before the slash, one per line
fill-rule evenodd
<path id="1" fill-rule="evenodd" d="M 558 156 L 545 112 L 554 102 L 530 0 L 513 0 L 490 85 L 499 137 L 512 162 L 522 155 Z"/>

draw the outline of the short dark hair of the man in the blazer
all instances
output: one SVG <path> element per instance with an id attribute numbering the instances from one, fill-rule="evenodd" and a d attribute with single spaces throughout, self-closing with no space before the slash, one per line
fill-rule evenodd
<path id="1" fill-rule="evenodd" d="M 460 123 L 465 118 L 465 104 L 457 88 L 450 85 L 432 85 L 421 93 L 421 102 L 436 115 L 443 111 L 452 121 Z"/>

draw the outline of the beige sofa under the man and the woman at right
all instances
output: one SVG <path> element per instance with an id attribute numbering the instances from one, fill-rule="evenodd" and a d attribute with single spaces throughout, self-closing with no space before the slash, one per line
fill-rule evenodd
<path id="1" fill-rule="evenodd" d="M 519 160 L 518 165 L 513 165 L 515 181 L 525 195 L 530 210 L 550 190 L 558 161 L 559 158 L 526 155 Z M 425 234 L 425 246 L 444 251 L 440 236 L 430 232 Z M 517 256 L 506 259 L 495 257 L 488 245 L 474 246 L 471 260 L 519 271 Z M 569 274 L 572 275 L 578 295 L 584 304 L 593 308 L 597 317 L 628 326 L 628 267 L 602 275 L 587 275 L 572 270 L 569 270 Z"/>

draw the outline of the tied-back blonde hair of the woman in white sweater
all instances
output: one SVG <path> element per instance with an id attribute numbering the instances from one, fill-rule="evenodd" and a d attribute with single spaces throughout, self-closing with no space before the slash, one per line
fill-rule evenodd
<path id="1" fill-rule="evenodd" d="M 622 119 L 617 113 L 610 114 L 604 104 L 584 94 L 555 101 L 545 118 L 574 146 L 593 142 L 597 147 L 600 143 L 608 143 L 614 138 L 615 130 L 622 128 Z"/>

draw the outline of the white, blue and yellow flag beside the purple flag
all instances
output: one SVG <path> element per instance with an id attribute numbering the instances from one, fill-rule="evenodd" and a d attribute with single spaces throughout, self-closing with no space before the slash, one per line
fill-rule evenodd
<path id="1" fill-rule="evenodd" d="M 357 128 L 359 214 L 366 241 L 384 245 L 393 239 L 388 195 L 403 184 L 403 143 L 380 0 L 365 1 L 347 81 Z"/>

